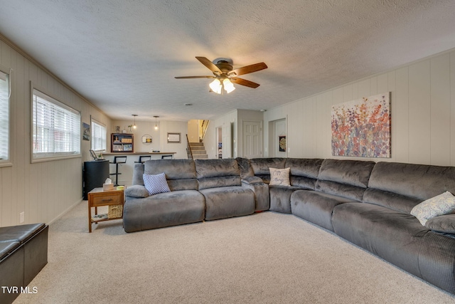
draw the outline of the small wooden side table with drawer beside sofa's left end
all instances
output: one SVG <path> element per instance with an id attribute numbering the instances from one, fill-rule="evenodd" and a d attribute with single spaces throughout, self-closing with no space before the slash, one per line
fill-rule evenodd
<path id="1" fill-rule="evenodd" d="M 98 214 L 97 207 L 109 205 L 122 205 L 122 215 L 119 217 L 92 220 L 92 207 L 95 207 L 95 215 Z M 100 221 L 111 221 L 113 219 L 123 218 L 124 191 L 110 190 L 103 191 L 102 188 L 95 188 L 88 193 L 88 232 L 92 232 L 92 224 Z"/>

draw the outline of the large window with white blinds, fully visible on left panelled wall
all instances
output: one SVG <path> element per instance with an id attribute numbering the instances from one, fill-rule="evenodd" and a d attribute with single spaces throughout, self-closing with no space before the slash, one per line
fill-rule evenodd
<path id="1" fill-rule="evenodd" d="M 80 112 L 33 89 L 33 159 L 80 155 Z"/>

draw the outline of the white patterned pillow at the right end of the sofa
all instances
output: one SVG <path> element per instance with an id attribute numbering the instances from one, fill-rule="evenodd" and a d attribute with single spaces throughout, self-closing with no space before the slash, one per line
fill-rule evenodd
<path id="1" fill-rule="evenodd" d="M 420 221 L 420 224 L 425 226 L 425 223 L 429 219 L 435 216 L 444 214 L 451 214 L 455 211 L 455 196 L 450 192 L 446 191 L 443 194 L 422 201 L 422 203 L 414 206 L 411 210 L 411 214 Z"/>

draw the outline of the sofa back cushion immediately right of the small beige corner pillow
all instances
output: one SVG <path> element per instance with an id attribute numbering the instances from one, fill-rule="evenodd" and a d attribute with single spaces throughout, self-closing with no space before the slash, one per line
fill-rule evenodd
<path id="1" fill-rule="evenodd" d="M 291 186 L 312 189 L 316 186 L 323 159 L 287 158 L 284 167 L 290 168 Z"/>

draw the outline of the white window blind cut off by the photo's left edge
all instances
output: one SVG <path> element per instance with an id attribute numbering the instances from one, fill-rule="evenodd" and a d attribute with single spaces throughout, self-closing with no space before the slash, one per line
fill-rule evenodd
<path id="1" fill-rule="evenodd" d="M 9 159 L 9 75 L 0 72 L 0 162 Z"/>

